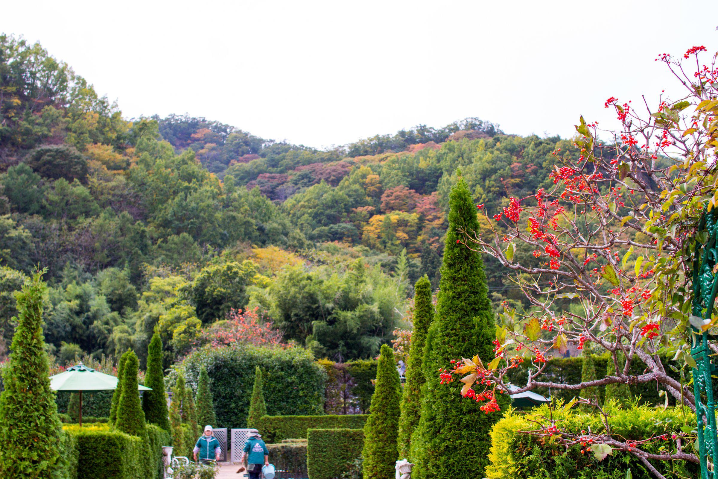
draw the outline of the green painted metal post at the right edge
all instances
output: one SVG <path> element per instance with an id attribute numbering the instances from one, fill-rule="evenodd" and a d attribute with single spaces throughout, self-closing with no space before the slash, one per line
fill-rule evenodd
<path id="1" fill-rule="evenodd" d="M 706 211 L 701 218 L 699 233 L 707 231 L 705 243 L 696 240 L 693 259 L 693 304 L 692 315 L 699 322 L 710 320 L 713 305 L 718 292 L 718 275 L 714 269 L 718 264 L 718 221 L 716 210 Z M 691 321 L 695 322 L 695 321 Z M 691 355 L 696 360 L 693 368 L 693 390 L 696 396 L 696 421 L 698 423 L 698 446 L 701 460 L 701 479 L 716 479 L 715 467 L 718 465 L 718 437 L 716 427 L 715 401 L 713 398 L 713 380 L 708 348 L 708 333 L 692 325 L 693 347 Z M 703 403 L 705 397 L 706 403 Z M 708 458 L 711 458 L 711 467 Z"/>

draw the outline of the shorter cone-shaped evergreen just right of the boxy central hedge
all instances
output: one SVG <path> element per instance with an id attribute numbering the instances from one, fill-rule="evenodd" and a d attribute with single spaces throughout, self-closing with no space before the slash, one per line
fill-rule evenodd
<path id="1" fill-rule="evenodd" d="M 381 346 L 376 367 L 376 386 L 371 396 L 369 418 L 364 425 L 364 479 L 391 479 L 396 462 L 401 380 L 391 348 Z"/>

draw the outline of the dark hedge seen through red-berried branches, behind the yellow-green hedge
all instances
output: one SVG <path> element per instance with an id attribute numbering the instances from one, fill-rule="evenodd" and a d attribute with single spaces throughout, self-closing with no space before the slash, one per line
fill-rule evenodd
<path id="1" fill-rule="evenodd" d="M 594 355 L 593 362 L 596 366 L 596 377 L 597 378 L 604 378 L 606 376 L 606 368 L 607 368 L 607 361 L 608 361 L 608 355 Z M 667 359 L 663 360 L 664 364 L 669 364 L 670 361 Z M 564 383 L 564 384 L 576 384 L 581 382 L 581 369 L 583 367 L 583 358 L 582 356 L 578 356 L 576 358 L 551 358 L 551 361 L 546 363 L 546 369 L 544 369 L 544 375 L 541 376 L 541 381 L 544 380 L 550 380 L 554 381 L 555 383 Z M 633 363 L 631 364 L 630 368 L 630 374 L 631 375 L 639 375 L 643 373 L 643 370 L 645 369 L 645 364 L 643 364 L 643 361 L 640 361 L 639 358 L 635 358 L 633 360 Z M 666 367 L 666 373 L 668 373 L 668 376 L 671 376 L 675 378 L 676 380 L 680 381 L 680 375 L 678 373 L 673 372 L 671 368 Z M 690 373 L 689 373 L 690 376 Z M 516 384 L 516 386 L 523 386 L 526 384 L 526 379 L 528 378 L 528 364 L 523 363 L 518 368 L 512 369 L 508 371 L 506 374 L 506 377 L 508 380 Z M 686 378 L 686 381 L 689 381 L 689 378 Z M 718 381 L 714 385 L 716 386 L 718 392 Z M 658 396 L 658 389 L 656 389 L 656 383 L 655 382 L 649 382 L 649 383 L 643 383 L 643 384 L 637 384 L 635 386 L 629 386 L 630 394 L 633 396 L 638 396 L 640 394 L 641 402 L 643 404 L 651 404 L 653 406 L 657 404 L 664 404 L 664 401 L 666 401 L 665 398 Z M 603 401 L 604 394 L 605 394 L 605 388 L 598 388 L 600 400 Z M 548 389 L 545 388 L 536 388 L 533 390 L 537 394 L 542 394 L 544 396 L 549 395 Z M 556 399 L 563 399 L 564 402 L 570 401 L 574 396 L 578 396 L 577 391 L 567 391 L 567 390 L 561 390 L 561 389 L 551 389 L 551 396 L 554 396 Z M 670 404 L 674 404 L 675 401 L 673 401 L 673 397 L 669 395 Z"/>

